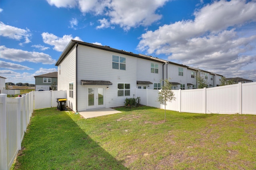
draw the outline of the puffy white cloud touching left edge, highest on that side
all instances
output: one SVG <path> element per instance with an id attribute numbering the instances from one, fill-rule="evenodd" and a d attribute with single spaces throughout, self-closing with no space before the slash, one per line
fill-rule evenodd
<path id="1" fill-rule="evenodd" d="M 21 39 L 25 39 L 24 43 L 20 43 L 20 45 L 26 44 L 26 43 L 30 43 L 30 30 L 29 29 L 20 29 L 17 27 L 13 27 L 10 25 L 6 25 L 3 22 L 0 21 L 0 27 L 1 27 L 1 31 L 0 31 L 0 35 L 4 36 L 4 37 L 8 37 L 10 39 L 15 39 L 15 40 L 21 40 Z"/>

